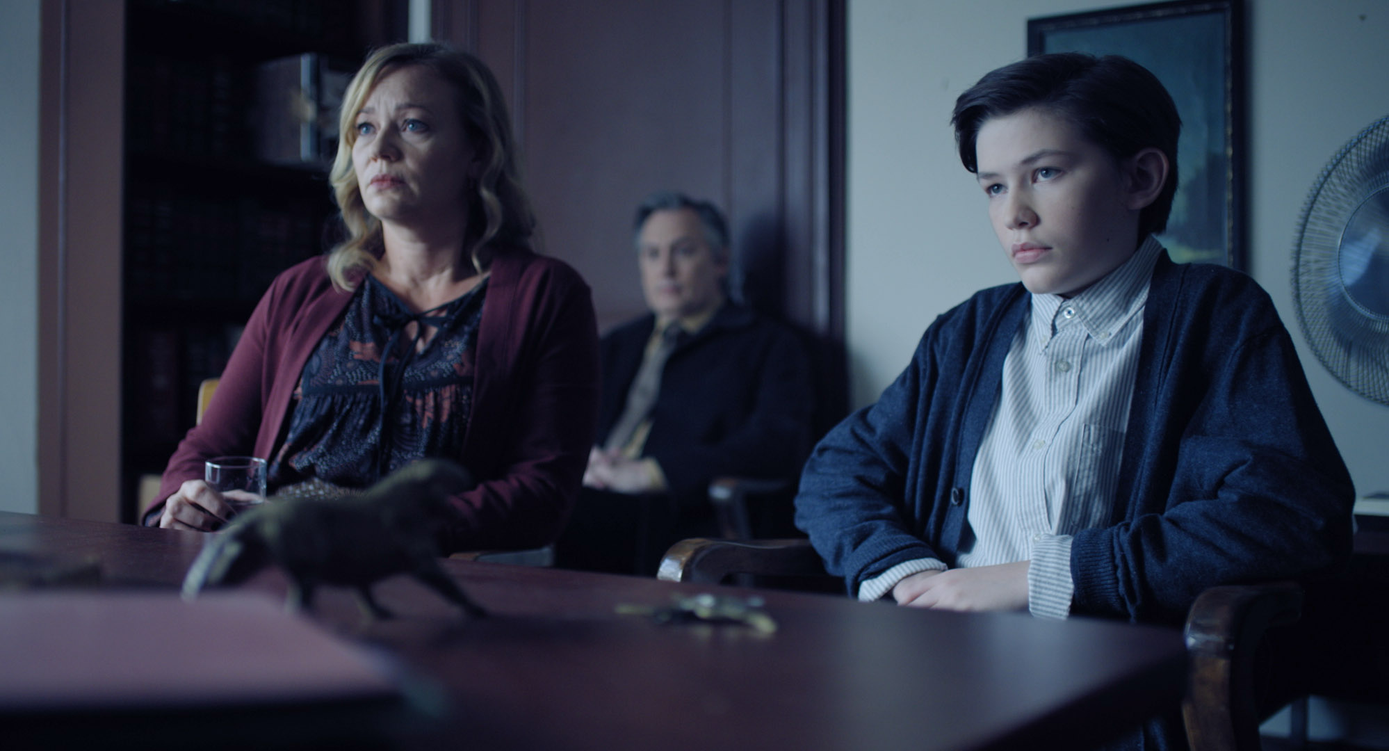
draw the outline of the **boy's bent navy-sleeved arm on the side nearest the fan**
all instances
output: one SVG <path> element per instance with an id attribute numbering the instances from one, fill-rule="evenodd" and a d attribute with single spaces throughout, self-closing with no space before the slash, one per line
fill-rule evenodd
<path id="1" fill-rule="evenodd" d="M 1354 487 L 1281 328 L 1231 350 L 1174 454 L 1132 501 L 1161 514 L 1076 533 L 1072 612 L 1178 622 L 1207 587 L 1349 559 Z"/>

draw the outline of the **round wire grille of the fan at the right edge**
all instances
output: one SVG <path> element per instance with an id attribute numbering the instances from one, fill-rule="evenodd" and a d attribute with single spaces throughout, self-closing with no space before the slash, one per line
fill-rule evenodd
<path id="1" fill-rule="evenodd" d="M 1368 237 L 1350 237 L 1347 223 L 1383 218 L 1389 207 L 1389 117 L 1371 124 L 1326 164 L 1303 207 L 1293 242 L 1293 303 L 1297 322 L 1321 364 L 1347 389 L 1389 404 L 1389 315 L 1346 292 L 1342 244 L 1374 243 L 1365 255 L 1389 262 L 1389 223 Z M 1364 208 L 1364 211 L 1361 211 Z M 1360 214 L 1357 215 L 1357 211 Z M 1374 223 L 1371 223 L 1374 226 Z M 1363 294 L 1363 293 L 1360 293 Z"/>

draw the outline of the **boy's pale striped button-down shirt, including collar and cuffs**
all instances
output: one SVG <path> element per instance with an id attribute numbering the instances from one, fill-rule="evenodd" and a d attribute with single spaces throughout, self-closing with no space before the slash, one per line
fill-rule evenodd
<path id="1" fill-rule="evenodd" d="M 1075 297 L 1033 294 L 1003 364 L 1003 389 L 970 479 L 958 566 L 1031 561 L 1033 615 L 1071 608 L 1071 536 L 1107 523 L 1143 336 L 1143 304 L 1161 246 L 1149 237 Z M 876 600 L 911 573 L 907 561 L 858 587 Z"/>

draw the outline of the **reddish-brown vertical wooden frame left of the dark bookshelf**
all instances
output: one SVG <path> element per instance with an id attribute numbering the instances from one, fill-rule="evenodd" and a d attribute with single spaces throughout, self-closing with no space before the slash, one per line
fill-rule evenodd
<path id="1" fill-rule="evenodd" d="M 39 512 L 121 518 L 125 1 L 43 0 Z"/>

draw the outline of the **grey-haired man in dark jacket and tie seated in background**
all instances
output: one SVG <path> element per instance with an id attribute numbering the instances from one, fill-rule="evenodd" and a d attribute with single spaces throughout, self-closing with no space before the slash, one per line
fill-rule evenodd
<path id="1" fill-rule="evenodd" d="M 711 479 L 793 479 L 811 441 L 808 358 L 732 300 L 718 208 L 656 193 L 633 229 L 650 312 L 601 341 L 597 443 L 557 546 L 567 568 L 653 573 L 669 543 L 717 534 Z"/>

